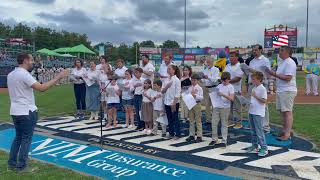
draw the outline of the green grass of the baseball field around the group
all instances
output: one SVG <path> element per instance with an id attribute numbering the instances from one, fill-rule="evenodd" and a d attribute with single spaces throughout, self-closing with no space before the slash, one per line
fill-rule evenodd
<path id="1" fill-rule="evenodd" d="M 298 73 L 297 84 L 304 86 L 304 77 L 302 73 Z M 72 114 L 75 111 L 73 86 L 55 86 L 47 92 L 36 92 L 36 104 L 39 108 L 41 117 L 57 116 Z M 0 93 L 0 122 L 11 122 L 9 116 L 9 96 L 8 93 Z M 275 110 L 275 105 L 270 104 L 271 121 L 280 124 L 280 114 Z M 320 151 L 320 105 L 295 105 L 294 106 L 294 130 L 299 135 L 310 139 L 317 145 L 315 151 Z M 3 179 L 21 179 L 21 176 L 15 173 L 6 173 L 7 153 L 0 151 L 0 176 Z M 81 175 L 79 173 L 59 168 L 53 165 L 33 161 L 32 166 L 40 167 L 40 173 L 36 175 L 26 175 L 24 179 L 95 179 Z M 4 172 L 4 174 L 1 174 Z"/>

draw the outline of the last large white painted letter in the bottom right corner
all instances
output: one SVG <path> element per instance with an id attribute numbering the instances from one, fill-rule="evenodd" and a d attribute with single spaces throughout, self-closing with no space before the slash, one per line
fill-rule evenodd
<path id="1" fill-rule="evenodd" d="M 314 160 L 295 160 L 301 157 L 315 157 Z M 320 154 L 289 149 L 288 152 L 269 156 L 256 161 L 246 163 L 246 165 L 272 169 L 272 166 L 291 166 L 297 175 L 306 179 L 320 179 L 320 173 L 315 166 L 320 166 Z"/>

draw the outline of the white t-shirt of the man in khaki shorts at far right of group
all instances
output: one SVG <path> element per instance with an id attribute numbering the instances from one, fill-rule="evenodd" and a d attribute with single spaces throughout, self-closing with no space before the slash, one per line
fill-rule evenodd
<path id="1" fill-rule="evenodd" d="M 296 63 L 290 57 L 279 64 L 277 69 L 277 74 L 291 75 L 292 79 L 290 81 L 284 81 L 277 78 L 276 79 L 277 92 L 285 92 L 285 91 L 297 92 L 296 71 L 297 71 Z"/>

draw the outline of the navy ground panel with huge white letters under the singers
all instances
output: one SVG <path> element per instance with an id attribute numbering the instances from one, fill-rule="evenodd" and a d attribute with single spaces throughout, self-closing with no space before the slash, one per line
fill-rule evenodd
<path id="1" fill-rule="evenodd" d="M 95 120 L 75 121 L 73 117 L 51 118 L 38 122 L 38 128 L 54 131 L 56 136 L 87 142 L 99 141 L 100 122 Z M 228 147 L 210 147 L 210 130 L 204 128 L 203 142 L 189 143 L 187 124 L 182 126 L 186 135 L 179 140 L 161 136 L 148 136 L 128 128 L 103 127 L 104 144 L 155 157 L 176 160 L 207 168 L 224 170 L 229 166 L 295 178 L 320 179 L 320 154 L 311 152 L 312 144 L 299 137 L 292 142 L 276 141 L 267 135 L 269 155 L 259 158 L 246 153 L 250 146 L 249 130 L 230 130 Z"/>

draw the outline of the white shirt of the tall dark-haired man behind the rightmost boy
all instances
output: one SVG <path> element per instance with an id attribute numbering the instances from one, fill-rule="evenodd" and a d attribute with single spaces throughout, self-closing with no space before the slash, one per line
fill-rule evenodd
<path id="1" fill-rule="evenodd" d="M 267 82 L 268 80 L 268 76 L 264 67 L 268 67 L 269 69 L 270 67 L 270 61 L 268 58 L 264 57 L 263 55 L 261 55 L 259 58 L 254 58 L 250 61 L 249 67 L 254 69 L 255 71 L 260 71 L 263 74 L 263 79 L 265 82 Z M 252 73 L 249 74 L 249 80 L 248 82 L 251 83 L 251 75 Z"/>

